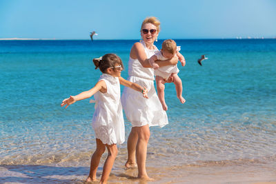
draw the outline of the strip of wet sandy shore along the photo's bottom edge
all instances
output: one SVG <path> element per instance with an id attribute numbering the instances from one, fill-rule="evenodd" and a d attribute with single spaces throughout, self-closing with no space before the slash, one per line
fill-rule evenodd
<path id="1" fill-rule="evenodd" d="M 103 162 L 103 161 L 101 161 Z M 102 164 L 97 171 L 100 178 Z M 258 167 L 257 170 L 255 168 Z M 0 165 L 0 183 L 83 183 L 89 172 L 89 165 L 69 166 L 50 165 Z M 172 170 L 168 170 L 172 169 Z M 174 167 L 147 167 L 154 181 L 148 184 L 184 183 L 184 184 L 276 184 L 273 171 L 262 166 L 253 167 L 186 167 L 174 170 Z M 237 169 L 237 170 L 236 170 Z M 124 170 L 124 166 L 112 168 L 109 183 L 140 183 L 137 170 Z"/>

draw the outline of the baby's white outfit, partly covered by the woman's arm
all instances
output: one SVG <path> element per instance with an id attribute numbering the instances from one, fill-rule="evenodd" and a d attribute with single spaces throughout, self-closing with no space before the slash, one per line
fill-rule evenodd
<path id="1" fill-rule="evenodd" d="M 180 46 L 177 46 L 177 51 L 180 51 Z M 161 51 L 159 50 L 155 52 L 155 55 L 157 59 L 161 61 L 168 59 L 164 57 Z M 178 72 L 179 72 L 179 69 L 177 68 L 177 65 L 166 65 L 166 66 L 157 68 L 155 70 L 155 76 L 161 76 L 163 79 L 168 80 L 168 78 L 172 73 L 177 74 Z"/>

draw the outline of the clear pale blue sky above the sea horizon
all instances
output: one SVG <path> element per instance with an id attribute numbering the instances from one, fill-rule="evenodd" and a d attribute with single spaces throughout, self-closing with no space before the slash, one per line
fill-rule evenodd
<path id="1" fill-rule="evenodd" d="M 148 16 L 159 39 L 276 37 L 275 0 L 0 0 L 0 39 L 139 39 Z"/>

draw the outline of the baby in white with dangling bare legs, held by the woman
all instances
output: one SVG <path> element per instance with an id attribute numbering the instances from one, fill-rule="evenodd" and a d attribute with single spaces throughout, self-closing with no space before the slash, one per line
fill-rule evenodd
<path id="1" fill-rule="evenodd" d="M 177 46 L 177 43 L 172 39 L 166 39 L 162 43 L 162 48 L 160 51 L 155 52 L 155 55 L 150 57 L 149 62 L 152 68 L 155 69 L 155 80 L 157 85 L 157 93 L 159 97 L 159 101 L 161 102 L 163 110 L 168 110 L 168 107 L 165 102 L 165 82 L 169 79 L 170 76 L 173 78 L 173 83 L 175 83 L 175 90 L 177 91 L 177 98 L 181 103 L 185 103 L 185 99 L 182 96 L 182 81 L 177 75 L 179 69 L 177 65 L 167 65 L 163 67 L 159 67 L 155 61 L 157 60 L 166 60 L 171 59 L 172 57 L 177 55 L 181 65 L 184 66 L 186 61 L 182 54 L 178 51 L 180 50 L 180 46 Z"/>

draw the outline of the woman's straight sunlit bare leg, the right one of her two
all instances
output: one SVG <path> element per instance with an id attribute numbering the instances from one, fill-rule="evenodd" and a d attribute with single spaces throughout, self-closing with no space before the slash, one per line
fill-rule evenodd
<path id="1" fill-rule="evenodd" d="M 146 155 L 148 140 L 150 139 L 150 127 L 144 125 L 141 127 L 132 127 L 138 134 L 136 146 L 136 159 L 138 165 L 138 178 L 150 179 L 146 172 Z"/>

